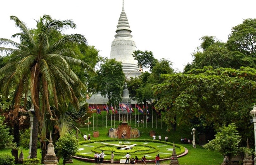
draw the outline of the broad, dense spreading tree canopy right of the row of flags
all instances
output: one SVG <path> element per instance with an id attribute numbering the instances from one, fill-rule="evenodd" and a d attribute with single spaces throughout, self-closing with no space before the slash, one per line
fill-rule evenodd
<path id="1" fill-rule="evenodd" d="M 165 81 L 153 87 L 159 98 L 155 107 L 169 107 L 164 118 L 168 129 L 173 128 L 171 123 L 197 118 L 204 127 L 214 129 L 235 123 L 241 134 L 247 134 L 244 127 L 252 127 L 248 112 L 256 99 L 255 75 L 256 70 L 249 67 L 205 67 L 187 74 L 166 74 Z"/>

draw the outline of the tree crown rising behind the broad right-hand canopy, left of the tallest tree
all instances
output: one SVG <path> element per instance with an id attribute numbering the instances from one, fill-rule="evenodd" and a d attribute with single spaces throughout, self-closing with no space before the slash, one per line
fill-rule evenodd
<path id="1" fill-rule="evenodd" d="M 235 68 L 255 67 L 256 58 L 249 57 L 237 50 L 230 51 L 227 44 L 221 42 L 213 36 L 204 36 L 200 47 L 196 52 L 192 53 L 194 58 L 191 64 L 187 64 L 184 72 L 191 69 L 204 68 L 204 66 L 212 66 L 213 68 Z"/>

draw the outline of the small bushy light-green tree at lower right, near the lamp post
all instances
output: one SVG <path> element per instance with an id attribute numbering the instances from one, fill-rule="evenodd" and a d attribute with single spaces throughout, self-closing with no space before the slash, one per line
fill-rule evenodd
<path id="1" fill-rule="evenodd" d="M 227 127 L 223 125 L 216 133 L 215 139 L 205 144 L 204 148 L 218 151 L 231 160 L 231 156 L 235 156 L 239 152 L 239 143 L 241 142 L 241 136 L 236 129 L 234 123 L 230 123 Z"/>

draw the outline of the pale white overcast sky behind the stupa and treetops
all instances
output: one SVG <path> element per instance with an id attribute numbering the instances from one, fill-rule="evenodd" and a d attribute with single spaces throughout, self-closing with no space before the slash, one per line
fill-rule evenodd
<path id="1" fill-rule="evenodd" d="M 256 18 L 255 7 L 256 0 L 124 0 L 137 49 L 152 51 L 156 59 L 169 59 L 179 71 L 192 61 L 199 38 L 212 35 L 227 41 L 233 26 Z M 66 33 L 85 35 L 89 45 L 109 57 L 122 0 L 5 0 L 0 8 L 0 38 L 19 32 L 11 15 L 36 28 L 35 20 L 49 14 L 72 19 L 77 28 Z"/>

